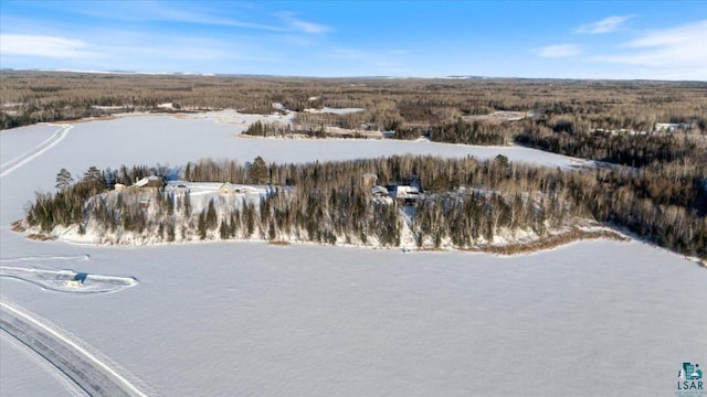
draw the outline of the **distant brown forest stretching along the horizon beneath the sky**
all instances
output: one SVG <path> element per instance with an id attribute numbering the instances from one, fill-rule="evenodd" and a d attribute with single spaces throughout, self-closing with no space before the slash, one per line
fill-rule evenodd
<path id="1" fill-rule="evenodd" d="M 365 124 L 379 130 L 429 130 L 460 117 L 535 110 L 542 115 L 537 121 L 555 132 L 651 131 L 658 122 L 684 122 L 697 135 L 707 131 L 704 82 L 285 78 L 8 69 L 0 71 L 0 128 L 112 112 L 165 111 L 158 105 L 171 103 L 179 111 L 233 108 L 271 114 L 288 109 L 298 111 L 298 125 L 348 129 Z M 303 112 L 323 106 L 363 111 Z M 510 128 L 515 132 L 525 129 Z"/>

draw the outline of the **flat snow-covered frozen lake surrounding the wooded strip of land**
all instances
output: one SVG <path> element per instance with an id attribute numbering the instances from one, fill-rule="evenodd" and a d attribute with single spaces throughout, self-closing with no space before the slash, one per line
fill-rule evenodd
<path id="1" fill-rule="evenodd" d="M 289 162 L 503 153 L 571 167 L 569 158 L 517 147 L 246 139 L 234 136 L 245 125 L 168 116 L 80 122 L 40 148 L 60 128 L 0 132 L 1 164 L 32 157 L 0 178 L 1 265 L 139 283 L 67 293 L 0 277 L 2 300 L 81 339 L 143 389 L 665 396 L 674 394 L 683 362 L 707 365 L 707 270 L 640 242 L 594 240 L 503 258 L 258 243 L 109 248 L 32 242 L 9 230 L 34 191 L 53 187 L 62 167 L 80 175 L 91 165 L 177 165 L 201 157 Z M 4 331 L 0 350 L 0 395 L 76 391 Z"/>

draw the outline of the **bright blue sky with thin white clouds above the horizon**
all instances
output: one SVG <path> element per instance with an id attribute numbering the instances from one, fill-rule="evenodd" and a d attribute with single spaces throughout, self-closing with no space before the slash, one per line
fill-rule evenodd
<path id="1" fill-rule="evenodd" d="M 707 1 L 10 1 L 0 66 L 707 81 Z"/>

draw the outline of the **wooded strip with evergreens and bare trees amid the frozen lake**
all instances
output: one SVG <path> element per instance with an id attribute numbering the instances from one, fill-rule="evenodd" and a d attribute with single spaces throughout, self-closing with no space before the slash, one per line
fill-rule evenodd
<path id="1" fill-rule="evenodd" d="M 323 244 L 397 247 L 408 229 L 419 248 L 488 246 L 494 236 L 516 233 L 549 237 L 597 221 L 623 228 L 680 254 L 707 256 L 707 179 L 694 165 L 597 168 L 560 171 L 515 164 L 499 155 L 474 158 L 391 157 L 306 164 L 245 165 L 210 159 L 179 169 L 134 167 L 89 169 L 77 182 L 63 171 L 55 193 L 38 194 L 24 223 L 51 234 L 57 226 L 81 233 L 134 233 L 161 242 L 205 238 L 262 238 Z M 223 206 L 213 200 L 192 207 L 154 193 L 149 207 L 139 194 L 107 193 L 116 181 L 159 174 L 186 181 L 267 183 L 258 202 Z M 414 178 L 424 194 L 414 203 L 377 201 L 363 175 L 381 185 Z M 67 182 L 68 181 L 68 182 Z"/>

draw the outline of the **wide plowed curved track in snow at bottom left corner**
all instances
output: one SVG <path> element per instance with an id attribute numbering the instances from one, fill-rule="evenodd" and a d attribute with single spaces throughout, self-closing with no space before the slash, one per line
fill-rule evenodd
<path id="1" fill-rule="evenodd" d="M 115 364 L 97 357 L 57 326 L 4 300 L 0 301 L 0 329 L 50 362 L 91 396 L 156 395 L 152 390 L 144 391 L 145 387 L 127 379 Z"/>

